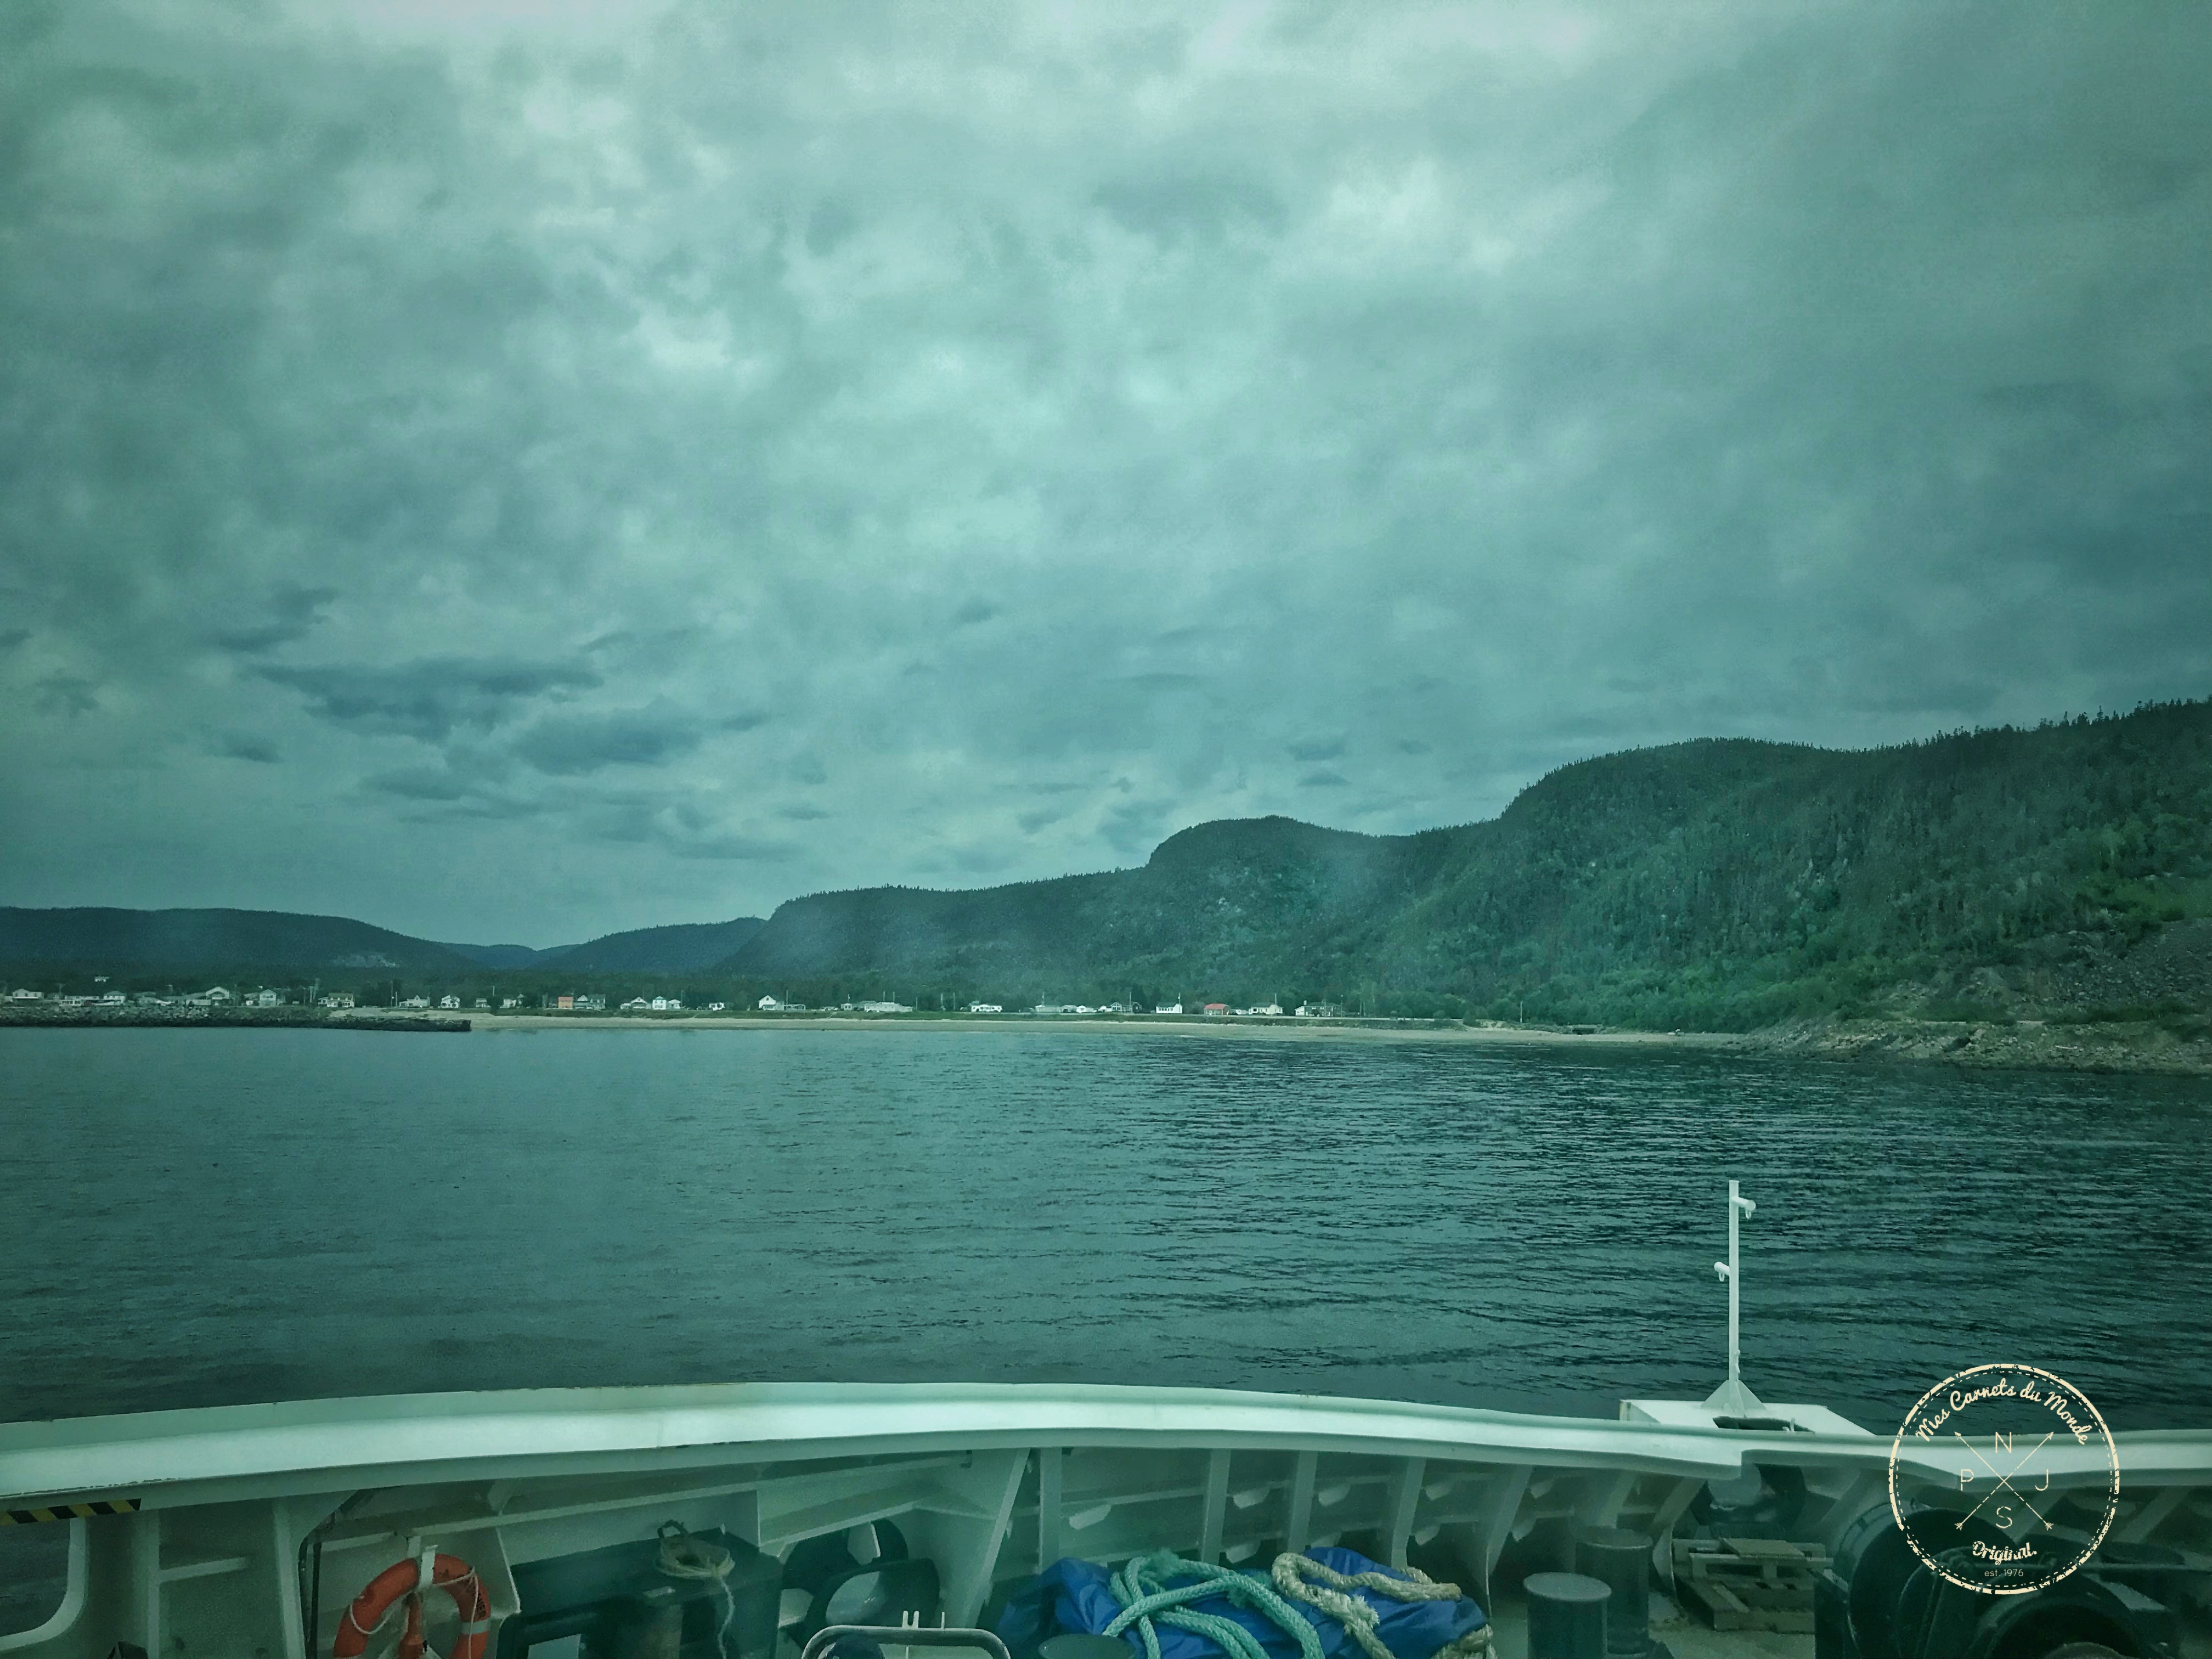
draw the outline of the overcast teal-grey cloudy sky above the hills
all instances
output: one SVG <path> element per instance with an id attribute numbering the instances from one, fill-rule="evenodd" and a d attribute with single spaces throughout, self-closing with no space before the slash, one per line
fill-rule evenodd
<path id="1" fill-rule="evenodd" d="M 553 945 L 2212 690 L 2199 4 L 0 35 L 0 902 Z"/>

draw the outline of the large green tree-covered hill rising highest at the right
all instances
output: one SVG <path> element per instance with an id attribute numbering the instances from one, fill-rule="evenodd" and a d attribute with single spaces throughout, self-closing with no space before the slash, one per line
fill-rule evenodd
<path id="1" fill-rule="evenodd" d="M 1858 752 L 1677 743 L 1562 768 L 1455 830 L 1212 823 L 1141 869 L 818 894 L 723 971 L 1732 1029 L 1900 995 L 2077 998 L 2205 916 L 2197 701 Z M 2168 980 L 2159 995 L 2205 1000 L 2188 960 Z"/>

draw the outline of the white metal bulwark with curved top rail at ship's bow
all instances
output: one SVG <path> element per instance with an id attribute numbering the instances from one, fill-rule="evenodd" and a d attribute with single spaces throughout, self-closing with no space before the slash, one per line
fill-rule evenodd
<path id="1" fill-rule="evenodd" d="M 1493 1593 L 1491 1573 L 1509 1548 L 1537 1571 L 1528 1551 L 1553 1548 L 1568 1522 L 1666 1535 L 1745 1460 L 1805 1471 L 1805 1540 L 1882 1502 L 1889 1436 L 1814 1405 L 1765 1413 L 1798 1431 L 1719 1429 L 1668 1400 L 1593 1420 L 1086 1385 L 546 1389 L 0 1425 L 7 1509 L 137 1511 L 64 1522 L 80 1544 L 71 1601 L 42 1632 L 0 1637 L 0 1652 L 102 1659 L 126 1639 L 164 1659 L 179 1641 L 188 1655 L 305 1655 L 301 1540 L 376 1489 L 325 1540 L 319 1650 L 361 1584 L 422 1544 L 469 1559 L 504 1617 L 515 1564 L 650 1537 L 661 1520 L 787 1553 L 896 1517 L 938 1564 L 953 1624 L 1060 1555 L 1248 1559 L 1239 1551 L 1354 1535 L 1402 1562 L 1442 1537 L 1471 1564 L 1469 1590 L 1511 1659 L 1515 1586 Z M 2119 1535 L 2212 1528 L 2212 1431 L 2117 1442 Z M 1936 1455 L 1902 1455 L 1920 1480 L 1949 1478 Z M 2088 1486 L 2101 1455 L 2055 1478 Z M 1661 1635 L 1681 1659 L 1809 1652 L 1809 1637 Z"/>

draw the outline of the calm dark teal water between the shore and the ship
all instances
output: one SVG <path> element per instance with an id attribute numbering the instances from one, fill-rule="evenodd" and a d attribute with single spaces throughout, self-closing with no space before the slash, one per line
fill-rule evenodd
<path id="1" fill-rule="evenodd" d="M 2212 1088 L 975 1031 L 0 1031 L 0 1418 L 732 1378 L 2212 1422 Z"/>

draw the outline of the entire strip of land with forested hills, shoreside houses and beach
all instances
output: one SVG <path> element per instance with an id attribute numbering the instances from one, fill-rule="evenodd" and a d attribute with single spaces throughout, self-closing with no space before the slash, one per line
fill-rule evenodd
<path id="1" fill-rule="evenodd" d="M 1307 1004 L 2185 1068 L 2212 1044 L 2212 703 L 1851 752 L 1705 739 L 1562 768 L 1484 823 L 1206 823 L 1135 869 L 814 894 L 553 951 L 270 911 L 13 909 L 0 978 L 465 1018 L 564 995 L 686 1018 L 761 998 L 914 1018 Z M 2079 1040 L 2035 1035 L 2053 1031 Z"/>

